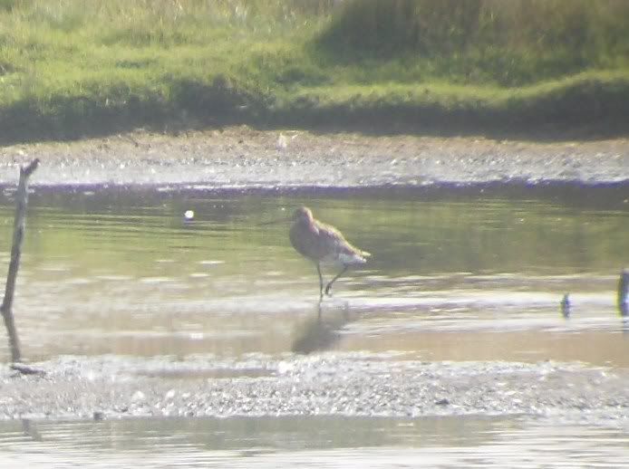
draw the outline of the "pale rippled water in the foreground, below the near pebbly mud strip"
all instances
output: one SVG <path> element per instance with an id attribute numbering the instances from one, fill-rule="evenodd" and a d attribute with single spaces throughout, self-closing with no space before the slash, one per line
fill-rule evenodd
<path id="1" fill-rule="evenodd" d="M 623 467 L 628 428 L 295 416 L 0 423 L 2 467 Z"/>

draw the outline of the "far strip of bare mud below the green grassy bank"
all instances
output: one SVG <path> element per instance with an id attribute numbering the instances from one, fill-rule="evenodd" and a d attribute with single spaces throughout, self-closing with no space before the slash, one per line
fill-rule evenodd
<path id="1" fill-rule="evenodd" d="M 33 186 L 381 187 L 629 184 L 629 139 L 533 143 L 247 127 L 135 132 L 0 148 L 0 184 L 42 160 Z"/>

